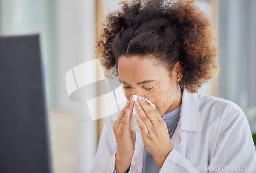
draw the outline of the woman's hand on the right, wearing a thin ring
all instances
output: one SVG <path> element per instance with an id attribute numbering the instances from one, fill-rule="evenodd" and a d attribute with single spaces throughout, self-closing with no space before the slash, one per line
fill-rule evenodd
<path id="1" fill-rule="evenodd" d="M 137 97 L 138 106 L 135 102 L 139 115 L 136 117 L 136 121 L 140 128 L 143 143 L 158 166 L 162 168 L 170 151 L 173 150 L 167 125 L 150 103 L 145 101 L 144 98 L 141 101 L 138 98 L 141 97 Z M 152 120 L 153 118 L 155 119 Z"/>

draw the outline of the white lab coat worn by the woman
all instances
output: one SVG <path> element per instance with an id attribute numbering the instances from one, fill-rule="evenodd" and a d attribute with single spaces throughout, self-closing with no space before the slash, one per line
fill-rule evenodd
<path id="1" fill-rule="evenodd" d="M 90 172 L 113 172 L 117 144 L 105 122 Z M 173 150 L 159 172 L 256 172 L 256 152 L 244 112 L 231 101 L 184 90 L 180 119 L 170 139 Z M 144 143 L 136 132 L 129 172 L 142 172 Z M 243 171 L 244 170 L 244 171 Z"/>

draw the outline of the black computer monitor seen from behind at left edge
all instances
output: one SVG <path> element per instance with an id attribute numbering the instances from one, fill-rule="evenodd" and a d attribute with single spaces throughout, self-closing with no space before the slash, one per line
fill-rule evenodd
<path id="1" fill-rule="evenodd" d="M 0 37 L 0 172 L 52 172 L 39 35 Z"/>

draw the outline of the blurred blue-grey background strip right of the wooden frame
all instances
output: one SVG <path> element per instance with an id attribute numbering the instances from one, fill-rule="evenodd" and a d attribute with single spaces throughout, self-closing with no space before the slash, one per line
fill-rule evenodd
<path id="1" fill-rule="evenodd" d="M 256 134 L 256 1 L 219 1 L 219 92 L 238 104 Z"/>

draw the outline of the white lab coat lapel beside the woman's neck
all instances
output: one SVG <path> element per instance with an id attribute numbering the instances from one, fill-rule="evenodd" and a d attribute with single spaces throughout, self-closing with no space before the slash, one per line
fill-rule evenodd
<path id="1" fill-rule="evenodd" d="M 197 93 L 183 91 L 178 129 L 201 131 L 199 101 Z"/>

